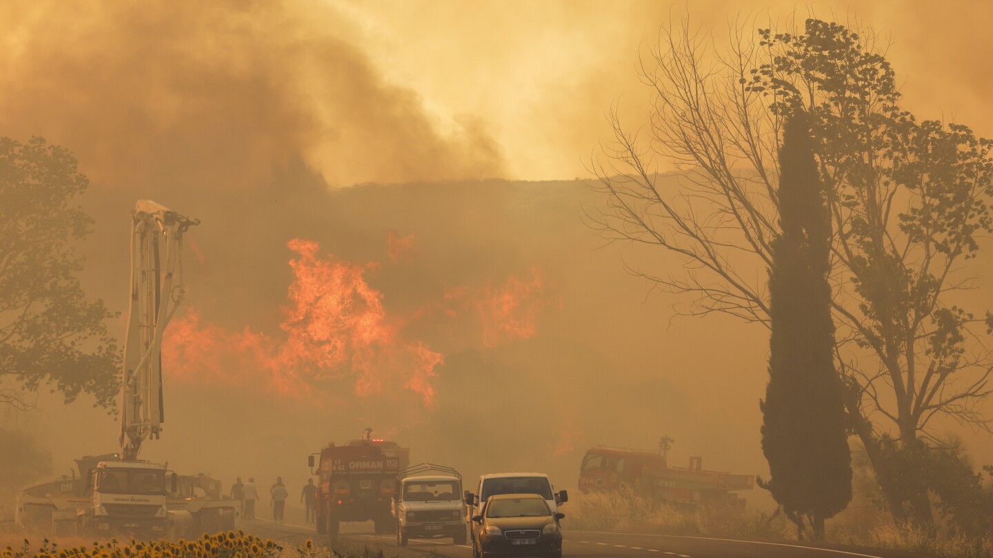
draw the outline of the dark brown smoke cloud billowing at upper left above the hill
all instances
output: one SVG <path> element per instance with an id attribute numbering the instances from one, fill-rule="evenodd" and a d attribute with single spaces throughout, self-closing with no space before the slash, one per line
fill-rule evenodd
<path id="1" fill-rule="evenodd" d="M 21 2 L 2 8 L 0 129 L 70 148 L 92 179 L 245 196 L 297 158 L 331 186 L 498 176 L 443 136 L 318 2 Z"/>

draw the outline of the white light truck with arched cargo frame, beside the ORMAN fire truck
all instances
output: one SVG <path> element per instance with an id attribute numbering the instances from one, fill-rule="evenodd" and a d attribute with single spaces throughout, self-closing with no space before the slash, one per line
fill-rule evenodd
<path id="1" fill-rule="evenodd" d="M 410 538 L 434 537 L 452 537 L 455 544 L 466 544 L 462 476 L 452 468 L 422 464 L 401 471 L 396 476 L 391 511 L 399 546 L 406 546 Z"/>

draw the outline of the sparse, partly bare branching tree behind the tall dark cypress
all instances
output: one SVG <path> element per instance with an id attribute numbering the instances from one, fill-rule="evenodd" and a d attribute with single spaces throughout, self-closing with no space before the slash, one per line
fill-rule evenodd
<path id="1" fill-rule="evenodd" d="M 688 295 L 687 314 L 770 327 L 761 270 L 773 265 L 778 232 L 779 131 L 809 113 L 831 215 L 835 364 L 850 427 L 894 518 L 928 523 L 929 502 L 901 499 L 887 479 L 881 439 L 926 439 L 941 415 L 989 429 L 979 410 L 993 392 L 983 320 L 948 294 L 969 285 L 962 270 L 993 229 L 993 141 L 905 110 L 871 34 L 810 19 L 798 33 L 732 35 L 717 52 L 688 24 L 663 32 L 642 67 L 656 93 L 649 139 L 615 113 L 616 142 L 594 162 L 606 205 L 592 224 L 608 239 L 680 257 L 682 274 L 633 271 Z M 681 174 L 653 172 L 652 154 Z"/>

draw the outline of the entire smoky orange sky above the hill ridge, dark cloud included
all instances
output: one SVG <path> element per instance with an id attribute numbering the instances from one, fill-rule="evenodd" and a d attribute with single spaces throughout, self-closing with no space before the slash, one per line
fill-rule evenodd
<path id="1" fill-rule="evenodd" d="M 297 152 L 333 187 L 584 177 L 612 102 L 645 122 L 638 53 L 687 14 L 717 43 L 736 21 L 872 25 L 919 117 L 993 129 L 993 6 L 964 0 L 6 2 L 0 124 L 121 182 Z"/>

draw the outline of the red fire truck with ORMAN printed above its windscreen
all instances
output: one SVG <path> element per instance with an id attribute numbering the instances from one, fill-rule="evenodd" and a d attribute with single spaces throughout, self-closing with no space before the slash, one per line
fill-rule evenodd
<path id="1" fill-rule="evenodd" d="M 328 444 L 308 458 L 311 474 L 318 477 L 318 533 L 335 537 L 341 522 L 368 520 L 377 533 L 393 532 L 390 506 L 396 476 L 407 468 L 410 450 L 371 434 L 366 429 L 361 440 Z"/>

